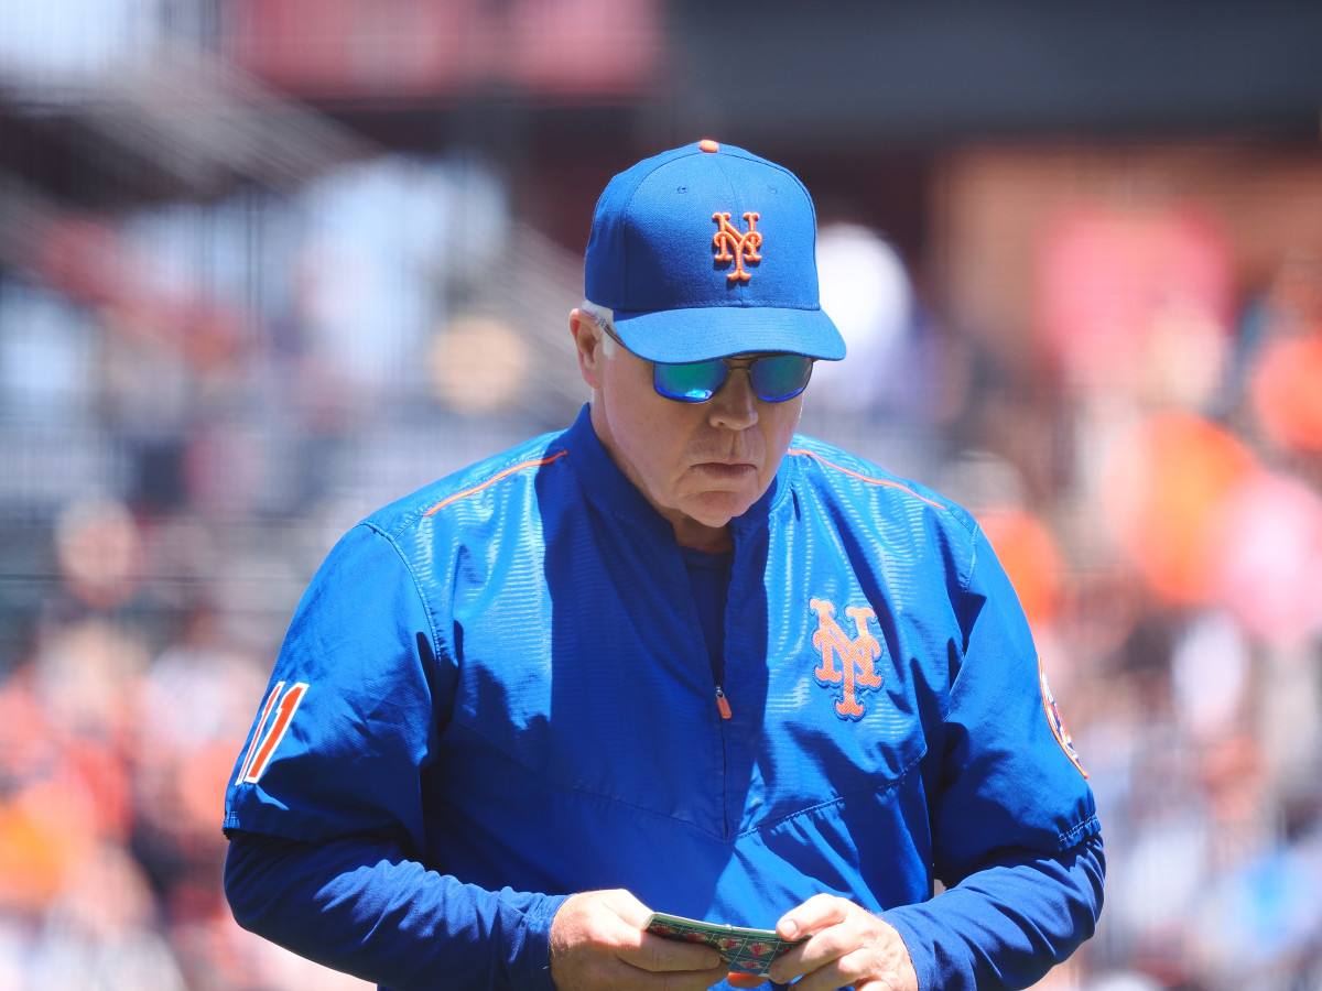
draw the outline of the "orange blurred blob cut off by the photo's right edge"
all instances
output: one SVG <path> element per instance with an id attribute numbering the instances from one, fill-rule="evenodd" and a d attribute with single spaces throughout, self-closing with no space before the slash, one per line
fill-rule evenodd
<path id="1" fill-rule="evenodd" d="M 1259 425 L 1280 449 L 1322 452 L 1322 337 L 1282 337 L 1266 345 L 1251 399 Z"/>

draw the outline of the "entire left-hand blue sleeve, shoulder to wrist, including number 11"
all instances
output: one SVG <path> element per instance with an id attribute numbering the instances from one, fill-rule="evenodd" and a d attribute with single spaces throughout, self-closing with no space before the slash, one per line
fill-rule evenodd
<path id="1" fill-rule="evenodd" d="M 295 612 L 226 794 L 238 922 L 386 987 L 550 988 L 563 899 L 427 869 L 420 777 L 456 663 L 395 544 L 360 525 Z"/>

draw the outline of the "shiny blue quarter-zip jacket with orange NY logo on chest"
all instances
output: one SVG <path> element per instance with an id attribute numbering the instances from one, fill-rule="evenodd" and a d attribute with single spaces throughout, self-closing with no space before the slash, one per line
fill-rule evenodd
<path id="1" fill-rule="evenodd" d="M 1100 908 L 1093 798 L 973 519 L 796 437 L 731 529 L 723 717 L 673 529 L 586 410 L 375 513 L 299 605 L 225 828 L 371 838 L 436 872 L 428 925 L 473 986 L 549 986 L 558 896 L 592 888 L 763 928 L 842 895 L 949 986 L 948 951 L 914 945 L 943 899 L 899 909 L 998 862 L 1076 889 L 1030 971 L 1068 954 Z M 990 954 L 1022 983 L 994 950 Z"/>

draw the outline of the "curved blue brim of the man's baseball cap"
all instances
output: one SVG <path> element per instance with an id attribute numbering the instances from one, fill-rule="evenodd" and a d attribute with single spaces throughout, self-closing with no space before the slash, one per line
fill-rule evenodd
<path id="1" fill-rule="evenodd" d="M 641 358 L 681 363 L 751 351 L 787 351 L 839 361 L 845 338 L 821 309 L 701 307 L 615 312 L 615 330 Z"/>

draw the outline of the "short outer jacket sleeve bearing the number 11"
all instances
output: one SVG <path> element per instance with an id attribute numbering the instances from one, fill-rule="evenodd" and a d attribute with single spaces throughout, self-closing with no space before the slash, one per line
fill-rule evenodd
<path id="1" fill-rule="evenodd" d="M 358 525 L 304 592 L 225 797 L 226 831 L 385 835 L 426 848 L 420 777 L 453 699 L 455 651 L 395 544 Z"/>

